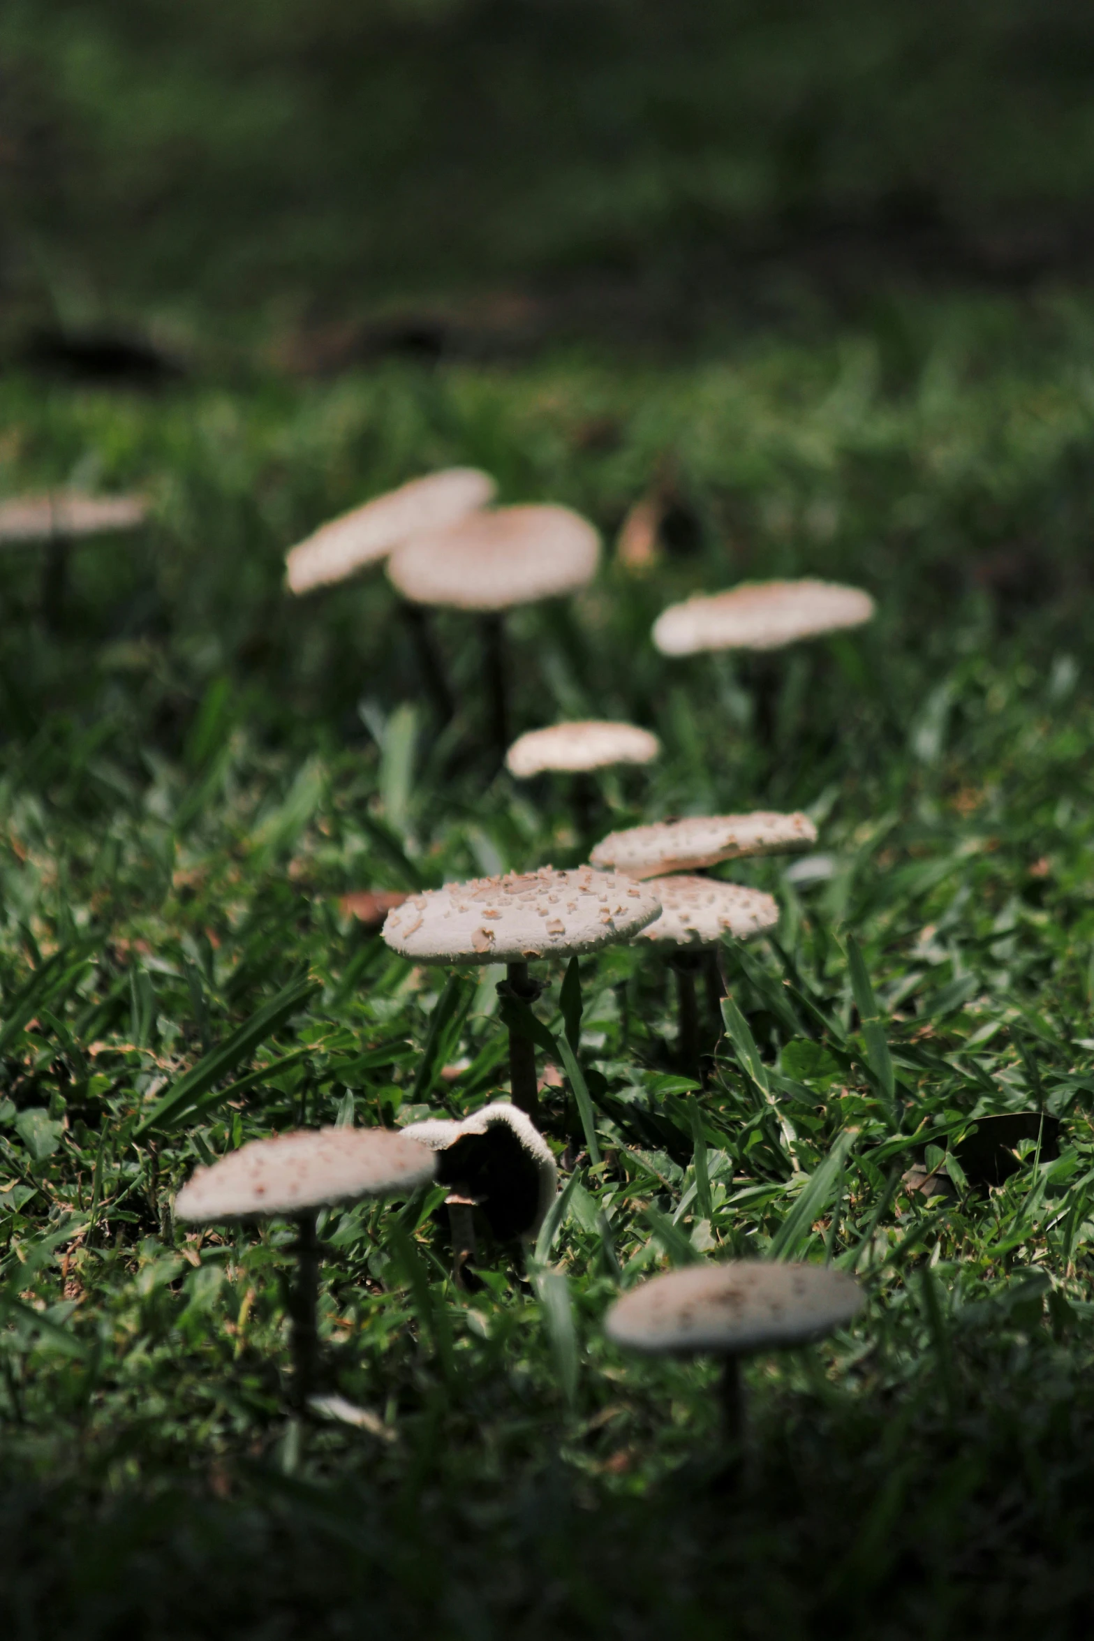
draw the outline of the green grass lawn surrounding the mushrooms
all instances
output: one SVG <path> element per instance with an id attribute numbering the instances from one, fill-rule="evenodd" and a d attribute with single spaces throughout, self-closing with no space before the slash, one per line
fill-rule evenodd
<path id="1" fill-rule="evenodd" d="M 154 502 L 146 537 L 75 555 L 61 637 L 36 614 L 34 553 L 2 568 L 13 1636 L 1076 1631 L 1094 1529 L 1092 382 L 1089 310 L 1064 299 L 892 307 L 814 346 L 659 373 L 574 354 L 159 399 L 3 382 L 3 491 L 84 474 Z M 466 624 L 440 624 L 461 707 L 438 740 L 382 578 L 289 604 L 284 548 L 446 461 L 612 533 L 666 456 L 697 553 L 640 581 L 609 563 L 572 604 L 520 615 L 515 715 L 661 734 L 653 773 L 605 783 L 605 830 L 805 806 L 832 875 L 732 873 L 781 898 L 779 947 L 727 953 L 745 1026 L 700 1095 L 671 1080 L 656 955 L 582 960 L 605 1163 L 572 1188 L 548 1303 L 505 1249 L 482 1293 L 456 1293 L 428 1200 L 328 1216 L 326 1360 L 387 1438 L 331 1424 L 300 1447 L 289 1227 L 198 1247 L 172 1191 L 277 1127 L 499 1091 L 495 976 L 461 981 L 459 1035 L 423 1070 L 446 976 L 338 896 L 564 865 L 581 842 L 564 788 L 490 778 Z M 768 573 L 879 601 L 873 627 L 779 660 L 771 747 L 746 668 L 648 642 L 671 597 Z M 556 1031 L 559 983 L 538 1006 Z M 149 1121 L 187 1073 L 189 1103 Z M 1032 1104 L 1061 1118 L 1058 1159 L 951 1201 L 902 1186 L 976 1116 Z M 697 1131 L 702 1218 L 702 1193 L 684 1201 Z M 602 1318 L 620 1280 L 750 1252 L 841 1262 L 868 1306 L 750 1365 L 751 1467 L 727 1495 L 712 1367 L 625 1359 Z"/>

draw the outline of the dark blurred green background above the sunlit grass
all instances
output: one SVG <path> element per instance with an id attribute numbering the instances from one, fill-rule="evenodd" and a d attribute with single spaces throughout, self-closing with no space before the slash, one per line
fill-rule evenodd
<path id="1" fill-rule="evenodd" d="M 1083 277 L 1092 72 L 1083 0 L 5 0 L 3 341 L 325 369 Z"/>

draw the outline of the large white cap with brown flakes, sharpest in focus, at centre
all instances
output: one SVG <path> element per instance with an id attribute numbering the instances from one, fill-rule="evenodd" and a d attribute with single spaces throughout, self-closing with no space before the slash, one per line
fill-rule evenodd
<path id="1" fill-rule="evenodd" d="M 630 940 L 659 909 L 645 884 L 615 871 L 540 866 L 412 894 L 389 912 L 384 939 L 417 963 L 520 963 Z"/>

